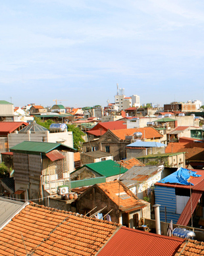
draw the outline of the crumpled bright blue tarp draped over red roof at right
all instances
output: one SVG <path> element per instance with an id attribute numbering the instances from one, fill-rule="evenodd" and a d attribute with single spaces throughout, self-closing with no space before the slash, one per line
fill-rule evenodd
<path id="1" fill-rule="evenodd" d="M 196 174 L 194 170 L 188 170 L 184 169 L 182 167 L 178 168 L 176 172 L 173 172 L 172 174 L 168 175 L 167 177 L 163 178 L 159 182 L 161 183 L 177 183 L 177 184 L 182 184 L 182 185 L 192 185 L 191 182 L 188 182 L 188 179 L 190 176 L 192 177 L 200 177 L 201 175 Z"/>

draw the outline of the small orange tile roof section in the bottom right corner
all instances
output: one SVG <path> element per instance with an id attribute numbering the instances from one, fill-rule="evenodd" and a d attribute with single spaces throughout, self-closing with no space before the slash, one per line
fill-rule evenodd
<path id="1" fill-rule="evenodd" d="M 186 240 L 182 245 L 180 246 L 180 249 L 178 249 L 175 256 L 182 256 L 182 255 L 188 255 L 188 256 L 199 256 L 203 255 L 204 251 L 204 242 L 198 242 L 196 240 Z"/>

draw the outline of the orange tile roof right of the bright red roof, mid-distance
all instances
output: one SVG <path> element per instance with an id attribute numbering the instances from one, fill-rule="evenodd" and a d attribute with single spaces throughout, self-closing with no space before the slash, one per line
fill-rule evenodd
<path id="1" fill-rule="evenodd" d="M 163 135 L 160 134 L 155 128 L 144 127 L 144 128 L 131 128 L 131 129 L 121 129 L 121 130 L 111 130 L 115 136 L 120 138 L 120 140 L 125 140 L 126 136 L 131 136 L 134 132 L 141 132 L 141 139 L 153 139 L 162 138 Z"/>

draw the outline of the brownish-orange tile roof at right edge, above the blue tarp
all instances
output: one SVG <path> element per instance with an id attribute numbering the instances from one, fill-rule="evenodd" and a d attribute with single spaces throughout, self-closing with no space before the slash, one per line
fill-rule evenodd
<path id="1" fill-rule="evenodd" d="M 168 143 L 165 153 L 186 152 L 186 160 L 202 160 L 204 147 L 199 142 L 170 142 Z"/>

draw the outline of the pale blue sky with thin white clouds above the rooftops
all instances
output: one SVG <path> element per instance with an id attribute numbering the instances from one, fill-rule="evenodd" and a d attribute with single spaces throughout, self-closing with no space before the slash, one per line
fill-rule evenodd
<path id="1" fill-rule="evenodd" d="M 1 100 L 65 107 L 204 98 L 203 0 L 0 3 Z"/>

